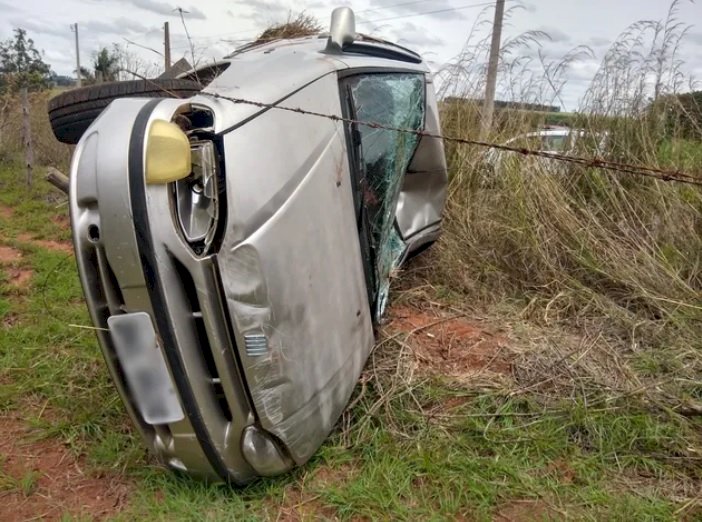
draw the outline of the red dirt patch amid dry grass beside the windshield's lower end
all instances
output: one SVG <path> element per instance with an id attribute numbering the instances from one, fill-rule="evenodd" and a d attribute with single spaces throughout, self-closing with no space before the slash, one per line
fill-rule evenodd
<path id="1" fill-rule="evenodd" d="M 421 365 L 452 377 L 483 372 L 510 374 L 513 354 L 506 340 L 464 317 L 441 317 L 408 307 L 390 310 L 388 329 L 407 334 L 407 344 Z"/>

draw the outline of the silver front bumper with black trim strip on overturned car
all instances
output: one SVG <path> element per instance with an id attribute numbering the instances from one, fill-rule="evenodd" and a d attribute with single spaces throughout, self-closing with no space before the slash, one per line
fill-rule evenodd
<path id="1" fill-rule="evenodd" d="M 216 256 L 186 247 L 173 226 L 168 186 L 144 181 L 147 124 L 170 119 L 173 103 L 116 100 L 81 140 L 70 187 L 76 259 L 109 371 L 148 447 L 171 468 L 244 484 L 293 462 L 256 423 Z M 152 361 L 165 363 L 168 382 L 154 393 L 171 389 L 182 415 L 177 408 L 160 419 L 147 413 L 139 371 L 129 370 L 110 321 L 136 314 L 153 326 L 152 349 L 160 353 Z M 149 337 L 147 323 L 133 322 Z"/>

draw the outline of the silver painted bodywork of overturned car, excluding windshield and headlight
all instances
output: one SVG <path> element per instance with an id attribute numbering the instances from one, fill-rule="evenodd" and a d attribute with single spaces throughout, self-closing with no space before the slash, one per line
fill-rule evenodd
<path id="1" fill-rule="evenodd" d="M 76 148 L 71 222 L 88 308 L 130 416 L 173 468 L 246 483 L 304 463 L 373 346 L 346 124 L 225 99 L 341 116 L 340 71 L 427 75 L 423 64 L 324 47 L 306 38 L 235 54 L 187 100 L 115 100 Z M 185 104 L 211 111 L 223 156 L 226 234 L 207 255 L 179 233 L 172 187 L 144 181 L 150 125 Z M 438 132 L 432 89 L 425 118 Z M 438 235 L 441 142 L 422 138 L 409 171 L 396 224 L 411 252 Z M 140 312 L 153 321 L 182 420 L 149 424 L 130 396 L 107 319 Z"/>

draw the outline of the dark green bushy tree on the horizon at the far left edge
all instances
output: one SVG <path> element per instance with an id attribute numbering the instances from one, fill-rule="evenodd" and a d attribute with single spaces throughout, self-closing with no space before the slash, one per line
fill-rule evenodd
<path id="1" fill-rule="evenodd" d="M 14 38 L 0 43 L 0 92 L 47 88 L 51 67 L 34 47 L 34 40 L 27 37 L 27 31 L 16 28 L 14 34 Z"/>

